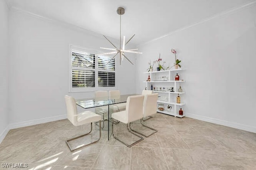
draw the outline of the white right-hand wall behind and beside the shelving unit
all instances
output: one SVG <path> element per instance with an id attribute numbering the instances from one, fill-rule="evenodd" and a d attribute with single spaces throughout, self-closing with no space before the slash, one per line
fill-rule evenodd
<path id="1" fill-rule="evenodd" d="M 145 87 L 142 72 L 149 59 L 161 52 L 164 61 L 174 63 L 171 48 L 186 69 L 186 116 L 256 132 L 255 5 L 140 45 L 137 93 Z"/>

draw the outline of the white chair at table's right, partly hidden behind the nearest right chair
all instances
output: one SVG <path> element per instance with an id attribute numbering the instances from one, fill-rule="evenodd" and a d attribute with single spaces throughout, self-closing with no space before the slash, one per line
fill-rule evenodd
<path id="1" fill-rule="evenodd" d="M 148 116 L 156 114 L 157 98 L 158 98 L 158 93 L 145 95 L 144 102 L 143 102 L 143 117 L 148 117 Z M 145 137 L 149 137 L 152 134 L 157 132 L 156 129 L 154 129 L 152 127 L 148 127 L 148 126 L 144 125 L 142 122 L 143 122 L 143 119 L 140 119 L 141 125 L 146 127 L 146 128 L 149 128 L 149 129 L 153 130 L 153 132 L 148 134 L 148 135 L 146 135 L 146 134 L 144 134 L 142 132 L 138 132 L 138 131 L 136 131 L 134 129 L 131 129 L 131 130 L 136 132 L 136 133 L 138 133 L 138 134 L 141 134 L 142 136 L 145 136 Z"/>

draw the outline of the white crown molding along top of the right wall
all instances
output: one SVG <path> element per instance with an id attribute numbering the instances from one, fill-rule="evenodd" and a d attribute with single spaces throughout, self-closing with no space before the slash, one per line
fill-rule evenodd
<path id="1" fill-rule="evenodd" d="M 149 41 L 147 41 L 147 42 L 140 43 L 140 44 L 138 44 L 138 46 L 140 46 L 140 45 L 145 45 L 145 44 L 148 44 L 148 43 L 151 43 L 151 42 L 160 40 L 160 39 L 165 38 L 165 37 L 167 37 L 167 36 L 171 36 L 172 34 L 175 34 L 175 33 L 177 33 L 177 32 L 180 32 L 180 31 L 186 30 L 186 29 L 188 29 L 188 28 L 197 26 L 197 25 L 202 24 L 202 23 L 204 23 L 204 22 L 208 22 L 208 21 L 210 21 L 210 20 L 212 20 L 212 19 L 214 19 L 214 18 L 219 18 L 219 17 L 222 17 L 222 16 L 226 16 L 226 15 L 232 14 L 232 13 L 238 11 L 238 10 L 243 10 L 244 8 L 249 8 L 249 7 L 254 6 L 254 5 L 256 5 L 256 0 L 253 0 L 253 1 L 248 2 L 248 3 L 246 3 L 246 4 L 242 4 L 241 6 L 238 6 L 238 7 L 232 8 L 232 9 L 230 9 L 230 10 L 221 12 L 221 13 L 216 14 L 216 15 L 214 15 L 214 16 L 208 17 L 208 18 L 206 18 L 206 19 L 204 19 L 204 20 L 201 20 L 201 21 L 196 22 L 196 23 L 194 23 L 194 24 L 191 24 L 191 25 L 189 25 L 189 26 L 185 26 L 185 27 L 182 27 L 182 28 L 180 28 L 180 29 L 178 29 L 178 30 L 169 32 L 169 33 L 164 34 L 163 36 L 160 36 L 160 37 L 158 37 L 158 38 L 154 38 L 154 39 L 149 40 Z M 256 21 L 255 21 L 255 22 L 256 22 Z"/>

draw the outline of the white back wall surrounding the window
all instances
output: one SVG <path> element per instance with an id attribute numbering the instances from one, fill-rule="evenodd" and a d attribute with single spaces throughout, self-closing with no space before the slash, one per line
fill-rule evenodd
<path id="1" fill-rule="evenodd" d="M 94 97 L 93 92 L 68 93 L 69 44 L 111 47 L 103 36 L 14 9 L 10 33 L 10 128 L 64 119 L 64 95 Z M 129 57 L 135 62 L 134 55 Z M 128 61 L 116 63 L 116 87 L 122 94 L 135 93 L 134 75 Z"/>

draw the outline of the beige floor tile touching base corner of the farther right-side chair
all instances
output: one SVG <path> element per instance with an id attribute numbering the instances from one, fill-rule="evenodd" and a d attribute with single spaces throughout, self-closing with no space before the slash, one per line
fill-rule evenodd
<path id="1" fill-rule="evenodd" d="M 162 148 L 189 148 L 178 134 L 156 133 L 156 137 Z"/>

